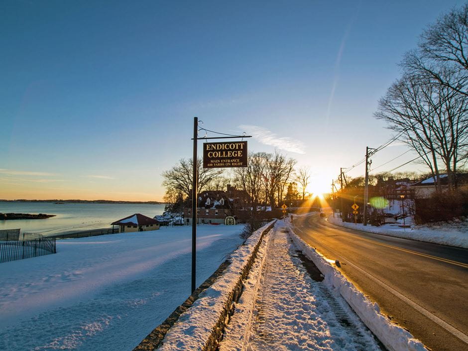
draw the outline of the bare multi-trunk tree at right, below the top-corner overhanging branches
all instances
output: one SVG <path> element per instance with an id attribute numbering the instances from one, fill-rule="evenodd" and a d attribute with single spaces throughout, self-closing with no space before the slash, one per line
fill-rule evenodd
<path id="1" fill-rule="evenodd" d="M 405 75 L 380 99 L 375 117 L 389 123 L 424 160 L 440 191 L 439 163 L 454 184 L 457 165 L 467 159 L 467 97 L 449 87 Z"/>

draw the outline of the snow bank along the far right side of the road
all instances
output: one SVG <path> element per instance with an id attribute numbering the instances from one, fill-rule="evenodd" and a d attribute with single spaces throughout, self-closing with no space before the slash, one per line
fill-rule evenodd
<path id="1" fill-rule="evenodd" d="M 434 242 L 436 244 L 458 246 L 468 248 L 468 233 L 467 231 L 458 231 L 447 227 L 440 227 L 437 229 L 430 228 L 406 228 L 395 227 L 390 225 L 383 225 L 381 227 L 364 226 L 361 223 L 354 224 L 342 222 L 341 219 L 328 218 L 328 221 L 334 225 L 354 229 L 362 232 L 383 234 L 389 236 L 402 237 L 405 239 Z"/>

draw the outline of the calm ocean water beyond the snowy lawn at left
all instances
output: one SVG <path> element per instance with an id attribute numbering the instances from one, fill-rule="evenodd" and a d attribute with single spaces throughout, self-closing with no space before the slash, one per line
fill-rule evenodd
<path id="1" fill-rule="evenodd" d="M 131 204 L 53 204 L 45 202 L 0 202 L 1 213 L 45 213 L 56 215 L 45 220 L 0 221 L 0 229 L 20 228 L 21 233 L 59 234 L 112 228 L 111 223 L 141 213 L 153 218 L 164 211 L 161 205 Z"/>

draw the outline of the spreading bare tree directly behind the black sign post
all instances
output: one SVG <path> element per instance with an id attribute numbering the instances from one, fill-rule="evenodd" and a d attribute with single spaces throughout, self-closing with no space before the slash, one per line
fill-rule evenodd
<path id="1" fill-rule="evenodd" d="M 215 178 L 221 176 L 224 172 L 220 168 L 203 168 L 203 160 L 199 158 L 197 160 L 198 168 L 198 184 L 197 194 L 204 190 L 210 182 Z M 164 181 L 162 185 L 166 189 L 173 189 L 181 191 L 185 196 L 191 198 L 192 189 L 192 175 L 193 175 L 193 161 L 192 159 L 186 160 L 185 158 L 179 160 L 174 167 L 168 171 L 164 171 L 162 176 Z"/>

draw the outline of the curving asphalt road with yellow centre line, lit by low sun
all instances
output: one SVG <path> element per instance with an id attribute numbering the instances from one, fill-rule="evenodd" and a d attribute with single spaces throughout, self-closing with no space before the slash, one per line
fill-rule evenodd
<path id="1" fill-rule="evenodd" d="M 349 230 L 318 215 L 293 225 L 426 347 L 468 351 L 468 249 Z"/>

